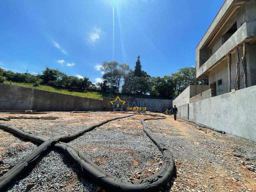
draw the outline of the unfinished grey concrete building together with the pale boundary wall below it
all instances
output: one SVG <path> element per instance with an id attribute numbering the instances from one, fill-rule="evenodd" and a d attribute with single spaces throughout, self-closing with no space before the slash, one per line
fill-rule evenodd
<path id="1" fill-rule="evenodd" d="M 196 47 L 196 78 L 173 105 L 184 119 L 256 141 L 256 0 L 226 0 Z"/>

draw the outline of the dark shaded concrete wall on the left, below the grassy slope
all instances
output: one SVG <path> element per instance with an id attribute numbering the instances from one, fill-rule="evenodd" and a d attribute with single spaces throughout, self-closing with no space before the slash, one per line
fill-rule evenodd
<path id="1" fill-rule="evenodd" d="M 0 83 L 0 110 L 102 110 L 102 100 Z"/>

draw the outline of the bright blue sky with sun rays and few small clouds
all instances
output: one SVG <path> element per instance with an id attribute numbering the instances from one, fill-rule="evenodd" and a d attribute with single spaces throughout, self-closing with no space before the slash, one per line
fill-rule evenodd
<path id="1" fill-rule="evenodd" d="M 151 76 L 194 66 L 195 48 L 224 0 L 1 0 L 0 67 L 102 77 L 115 60 Z"/>

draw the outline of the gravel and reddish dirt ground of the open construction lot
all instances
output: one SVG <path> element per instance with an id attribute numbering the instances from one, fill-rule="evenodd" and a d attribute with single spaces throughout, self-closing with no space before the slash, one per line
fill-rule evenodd
<path id="1" fill-rule="evenodd" d="M 8 116 L 58 117 L 56 120 L 12 119 L 13 126 L 53 137 L 69 134 L 89 124 L 116 116 L 115 112 L 50 112 L 49 114 L 0 114 Z M 256 143 L 198 127 L 172 115 L 148 120 L 148 128 L 168 145 L 176 165 L 173 178 L 158 192 L 256 191 Z M 108 122 L 69 142 L 106 172 L 127 180 L 146 178 L 162 167 L 162 153 L 142 130 L 138 114 Z M 0 176 L 26 157 L 38 144 L 0 130 Z M 78 165 L 52 149 L 6 191 L 107 192 L 95 184 Z"/>

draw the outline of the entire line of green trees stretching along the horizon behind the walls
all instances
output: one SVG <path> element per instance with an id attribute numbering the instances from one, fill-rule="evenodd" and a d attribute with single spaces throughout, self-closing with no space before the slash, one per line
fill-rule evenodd
<path id="1" fill-rule="evenodd" d="M 46 66 L 41 74 L 28 72 L 18 73 L 0 68 L 0 82 L 33 83 L 34 86 L 47 85 L 53 87 L 77 88 L 84 91 L 101 90 L 110 94 L 141 94 L 160 97 L 178 96 L 189 85 L 195 84 L 195 67 L 185 67 L 164 77 L 151 77 L 142 70 L 138 56 L 134 70 L 128 64 L 116 61 L 103 62 L 100 68 L 104 72 L 103 82 L 93 84 L 89 78 L 68 76 L 56 69 Z M 208 84 L 208 80 L 200 80 L 197 84 Z"/>

